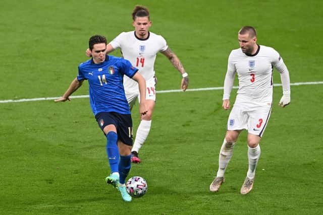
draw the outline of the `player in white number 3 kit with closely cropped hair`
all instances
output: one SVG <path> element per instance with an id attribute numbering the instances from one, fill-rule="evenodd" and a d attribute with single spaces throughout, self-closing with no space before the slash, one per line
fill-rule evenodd
<path id="1" fill-rule="evenodd" d="M 255 170 L 260 157 L 259 141 L 270 118 L 273 101 L 273 66 L 280 73 L 283 97 L 279 105 L 290 103 L 290 79 L 288 69 L 273 48 L 258 45 L 256 30 L 245 26 L 238 33 L 240 48 L 232 50 L 228 60 L 228 70 L 224 81 L 222 107 L 230 109 L 230 93 L 238 74 L 239 89 L 236 101 L 228 119 L 227 133 L 219 155 L 217 177 L 210 185 L 210 191 L 217 192 L 224 182 L 224 174 L 233 155 L 235 142 L 243 129 L 248 130 L 249 168 L 240 193 L 247 194 L 253 187 Z"/>

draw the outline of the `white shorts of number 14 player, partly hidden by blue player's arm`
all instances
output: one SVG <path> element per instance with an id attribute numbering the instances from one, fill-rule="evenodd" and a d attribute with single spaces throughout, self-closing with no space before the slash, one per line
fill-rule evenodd
<path id="1" fill-rule="evenodd" d="M 155 90 L 155 78 L 152 78 L 146 81 L 146 100 L 156 101 L 156 90 Z M 138 86 L 138 85 L 137 85 Z M 126 98 L 128 100 L 128 104 L 130 109 L 136 104 L 136 100 L 140 101 L 139 89 L 125 89 Z"/>

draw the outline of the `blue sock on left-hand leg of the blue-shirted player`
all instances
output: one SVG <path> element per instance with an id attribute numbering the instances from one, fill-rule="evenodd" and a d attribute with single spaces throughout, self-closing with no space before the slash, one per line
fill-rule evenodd
<path id="1" fill-rule="evenodd" d="M 110 164 L 111 172 L 118 172 L 118 165 L 119 165 L 119 149 L 117 146 L 118 135 L 114 131 L 110 131 L 106 134 L 106 154 L 107 160 Z"/>

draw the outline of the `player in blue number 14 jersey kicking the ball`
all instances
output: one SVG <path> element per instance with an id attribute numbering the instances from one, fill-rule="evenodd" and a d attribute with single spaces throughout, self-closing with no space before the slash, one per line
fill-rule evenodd
<path id="1" fill-rule="evenodd" d="M 90 105 L 99 127 L 106 136 L 106 153 L 111 174 L 105 178 L 108 184 L 119 189 L 125 201 L 131 201 L 126 191 L 125 180 L 131 168 L 132 119 L 123 87 L 123 77 L 136 81 L 140 100 L 140 114 L 147 113 L 145 106 L 146 82 L 138 69 L 123 58 L 106 55 L 106 39 L 94 35 L 89 39 L 92 58 L 81 63 L 78 76 L 64 95 L 55 102 L 69 99 L 84 80 L 89 83 Z"/>

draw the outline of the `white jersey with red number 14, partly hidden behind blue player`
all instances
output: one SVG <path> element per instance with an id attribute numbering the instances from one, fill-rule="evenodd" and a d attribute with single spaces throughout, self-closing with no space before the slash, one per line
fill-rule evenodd
<path id="1" fill-rule="evenodd" d="M 168 48 L 166 40 L 152 32 L 148 33 L 147 39 L 136 37 L 135 31 L 122 32 L 110 42 L 114 49 L 120 48 L 122 56 L 139 69 L 139 73 L 146 81 L 154 75 L 154 63 L 156 54 Z M 138 84 L 134 80 L 124 77 L 125 90 L 138 90 Z"/>

